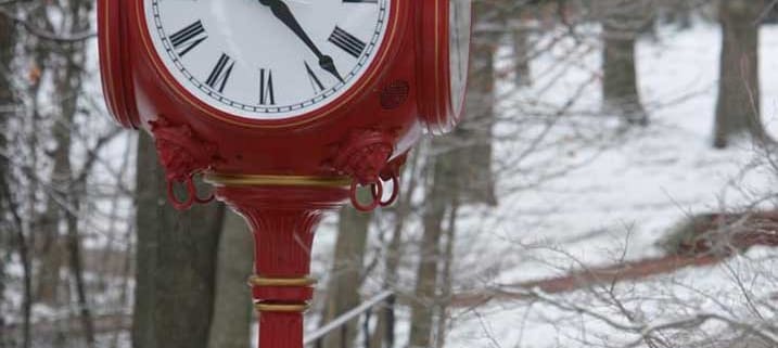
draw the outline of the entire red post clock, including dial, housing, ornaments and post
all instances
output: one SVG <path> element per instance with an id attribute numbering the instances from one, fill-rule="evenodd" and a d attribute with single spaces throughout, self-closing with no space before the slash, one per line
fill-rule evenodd
<path id="1" fill-rule="evenodd" d="M 202 175 L 245 217 L 259 345 L 302 347 L 322 215 L 349 198 L 391 204 L 420 137 L 460 119 L 470 0 L 98 0 L 98 12 L 111 114 L 154 137 L 175 207 L 211 199 L 194 190 Z"/>

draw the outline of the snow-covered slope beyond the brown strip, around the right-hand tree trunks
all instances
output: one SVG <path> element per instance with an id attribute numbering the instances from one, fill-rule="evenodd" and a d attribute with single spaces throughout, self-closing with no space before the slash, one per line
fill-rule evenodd
<path id="1" fill-rule="evenodd" d="M 775 133 L 778 83 L 769 77 L 778 74 L 778 28 L 767 27 L 764 31 L 764 117 Z M 469 211 L 469 219 L 460 228 L 463 240 L 458 243 L 467 246 L 460 250 L 464 257 L 461 265 L 470 267 L 473 260 L 483 262 L 483 255 L 500 255 L 506 269 L 494 281 L 518 282 L 557 272 L 544 265 L 548 260 L 543 252 L 527 250 L 536 244 L 556 244 L 587 265 L 610 262 L 614 255 L 621 255 L 627 239 L 627 259 L 655 256 L 660 253 L 655 242 L 685 216 L 736 209 L 767 193 L 775 184 L 770 172 L 742 171 L 756 156 L 751 144 L 743 142 L 726 151 L 711 149 L 718 41 L 717 28 L 705 25 L 663 33 L 658 41 L 642 40 L 638 48 L 640 92 L 645 103 L 651 105 L 651 125 L 613 139 L 604 139 L 612 137 L 610 129 L 602 130 L 604 134 L 597 136 L 600 143 L 594 149 L 573 142 L 537 155 L 551 156 L 550 160 L 531 156 L 526 162 L 574 167 L 530 189 L 510 188 L 532 181 L 526 177 L 541 170 L 527 167 L 524 172 L 500 177 L 500 205 Z M 586 65 L 582 70 L 594 72 L 599 65 L 599 51 L 592 50 L 579 61 Z M 544 65 L 552 63 L 541 57 L 533 70 L 544 70 Z M 573 79 L 578 75 L 581 81 L 584 74 L 569 75 Z M 564 94 L 576 82 L 558 82 L 554 88 L 560 92 L 547 94 Z M 519 94 L 522 93 L 533 91 Z M 527 96 L 521 95 L 519 102 L 521 98 Z M 599 104 L 599 86 L 591 85 L 581 107 Z M 603 129 L 610 127 L 608 120 L 602 124 Z M 573 127 L 577 125 L 559 126 L 550 138 L 562 139 Z M 503 141 L 498 156 L 511 156 L 516 147 Z M 541 260 L 533 261 L 531 254 Z"/>

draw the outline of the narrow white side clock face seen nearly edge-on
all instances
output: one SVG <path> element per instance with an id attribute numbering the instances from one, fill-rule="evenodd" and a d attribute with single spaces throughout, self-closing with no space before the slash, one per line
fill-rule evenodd
<path id="1" fill-rule="evenodd" d="M 470 61 L 471 0 L 450 0 L 449 52 L 451 75 L 451 103 L 454 112 L 460 115 L 464 105 Z"/>

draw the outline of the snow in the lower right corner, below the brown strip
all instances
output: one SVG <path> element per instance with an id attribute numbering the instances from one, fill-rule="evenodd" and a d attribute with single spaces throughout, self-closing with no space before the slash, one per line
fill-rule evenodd
<path id="1" fill-rule="evenodd" d="M 639 313 L 635 322 L 620 314 L 612 304 L 598 300 L 585 291 L 549 297 L 550 301 L 559 301 L 561 306 L 579 306 L 602 314 L 605 320 L 561 310 L 548 302 L 500 302 L 473 310 L 459 310 L 454 313 L 454 328 L 447 337 L 446 347 L 643 347 L 630 346 L 639 343 L 640 336 L 637 333 L 627 334 L 610 325 L 661 325 L 688 320 L 700 313 L 754 323 L 754 314 L 742 308 L 744 297 L 734 280 L 734 273 L 739 274 L 747 289 L 753 292 L 754 298 L 758 300 L 769 295 L 769 291 L 775 291 L 775 279 L 773 282 L 765 280 L 764 273 L 776 268 L 778 260 L 775 258 L 775 250 L 760 249 L 738 257 L 726 266 L 686 269 L 647 282 L 621 284 L 615 287 L 614 293 L 623 299 L 624 307 Z M 765 308 L 762 310 L 763 313 L 770 313 Z M 771 313 L 775 315 L 774 311 Z M 769 315 L 764 318 L 767 322 L 777 319 Z M 664 338 L 679 344 L 684 340 L 675 339 L 710 337 L 720 334 L 723 324 L 712 320 L 699 330 L 684 330 L 679 334 L 685 337 Z M 735 334 L 729 338 L 738 339 Z M 723 337 L 718 336 L 718 339 Z M 730 347 L 724 340 L 718 344 L 722 345 L 719 347 Z"/>

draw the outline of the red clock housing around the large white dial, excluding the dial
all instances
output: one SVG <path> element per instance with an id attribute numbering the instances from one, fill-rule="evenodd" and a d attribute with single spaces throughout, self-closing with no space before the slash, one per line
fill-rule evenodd
<path id="1" fill-rule="evenodd" d="M 334 166 L 348 146 L 344 142 L 358 138 L 354 132 L 383 133 L 392 140 L 394 158 L 418 139 L 419 120 L 446 131 L 459 119 L 448 92 L 449 1 L 392 3 L 386 42 L 356 88 L 323 109 L 268 121 L 217 111 L 171 78 L 151 47 L 143 1 L 99 1 L 106 102 L 125 127 L 151 129 L 150 121 L 164 117 L 167 125 L 187 126 L 200 141 L 216 146 L 218 160 L 208 168 L 188 168 L 193 171 L 354 175 Z"/>

